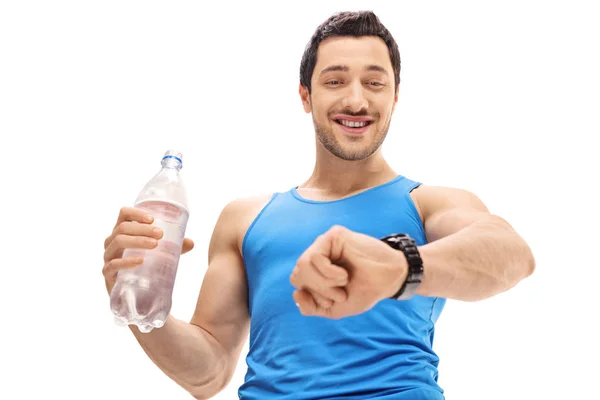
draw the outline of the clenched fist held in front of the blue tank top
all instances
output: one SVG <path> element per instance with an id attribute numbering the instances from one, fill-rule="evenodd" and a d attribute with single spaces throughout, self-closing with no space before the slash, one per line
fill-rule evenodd
<path id="1" fill-rule="evenodd" d="M 385 242 L 334 226 L 298 259 L 290 276 L 306 316 L 339 319 L 370 310 L 397 293 L 407 276 L 404 254 Z M 324 304 L 323 298 L 331 299 Z"/>

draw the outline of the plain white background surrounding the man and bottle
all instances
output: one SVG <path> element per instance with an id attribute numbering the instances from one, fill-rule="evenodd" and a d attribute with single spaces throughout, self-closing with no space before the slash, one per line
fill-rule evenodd
<path id="1" fill-rule="evenodd" d="M 311 172 L 305 44 L 332 12 L 365 8 L 402 56 L 386 158 L 478 194 L 537 259 L 510 292 L 448 302 L 434 343 L 447 399 L 598 396 L 592 4 L 2 2 L 0 397 L 189 398 L 113 325 L 104 238 L 163 152 L 180 149 L 196 248 L 172 313 L 188 320 L 224 204 Z M 216 398 L 237 398 L 245 367 Z"/>

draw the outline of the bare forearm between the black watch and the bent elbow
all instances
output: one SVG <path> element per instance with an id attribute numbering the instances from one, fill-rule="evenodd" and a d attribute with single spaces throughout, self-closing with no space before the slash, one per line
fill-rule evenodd
<path id="1" fill-rule="evenodd" d="M 525 241 L 495 216 L 420 246 L 419 252 L 424 271 L 417 294 L 463 301 L 510 289 L 535 264 Z"/>

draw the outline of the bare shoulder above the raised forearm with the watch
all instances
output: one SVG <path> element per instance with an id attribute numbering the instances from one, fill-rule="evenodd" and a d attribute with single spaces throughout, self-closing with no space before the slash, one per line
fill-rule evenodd
<path id="1" fill-rule="evenodd" d="M 411 192 L 410 196 L 423 219 L 453 208 L 469 208 L 488 212 L 483 201 L 467 189 L 420 185 Z"/>

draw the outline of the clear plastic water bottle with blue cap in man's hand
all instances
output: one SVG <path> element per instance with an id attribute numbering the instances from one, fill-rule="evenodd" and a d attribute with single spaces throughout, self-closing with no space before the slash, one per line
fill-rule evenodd
<path id="1" fill-rule="evenodd" d="M 150 332 L 164 325 L 171 312 L 173 286 L 189 218 L 187 194 L 179 174 L 180 152 L 165 153 L 160 171 L 138 195 L 134 207 L 154 217 L 153 225 L 163 230 L 154 249 L 126 249 L 123 257 L 141 256 L 142 265 L 121 270 L 110 294 L 115 323 L 137 325 Z"/>

